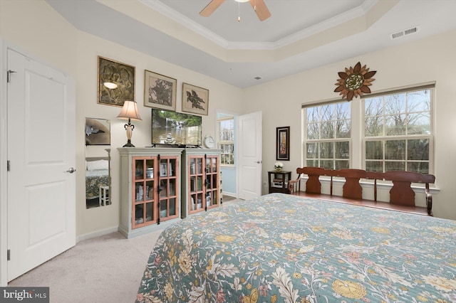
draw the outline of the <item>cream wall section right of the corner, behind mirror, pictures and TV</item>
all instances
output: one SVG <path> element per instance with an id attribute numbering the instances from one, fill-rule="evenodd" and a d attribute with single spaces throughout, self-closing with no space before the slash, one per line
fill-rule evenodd
<path id="1" fill-rule="evenodd" d="M 132 142 L 135 147 L 146 147 L 151 145 L 151 108 L 144 106 L 144 70 L 151 70 L 155 73 L 167 75 L 177 79 L 177 112 L 182 108 L 182 82 L 191 83 L 209 89 L 209 115 L 202 118 L 202 134 L 212 134 L 215 136 L 216 129 L 216 109 L 232 110 L 239 112 L 241 93 L 237 87 L 227 85 L 205 75 L 192 72 L 172 65 L 157 58 L 152 58 L 144 53 L 125 48 L 115 43 L 105 41 L 88 33 L 78 32 L 78 73 L 76 94 L 78 105 L 78 117 L 76 129 L 84 129 L 85 117 L 96 117 L 111 120 L 111 161 L 112 161 L 112 184 L 113 184 L 113 205 L 101 208 L 86 210 L 83 203 L 78 203 L 78 235 L 87 235 L 105 228 L 117 228 L 119 217 L 120 196 L 119 182 L 119 154 L 117 147 L 122 147 L 126 143 L 126 135 L 123 125 L 125 120 L 117 119 L 120 107 L 98 105 L 96 102 L 97 93 L 97 57 L 101 55 L 105 58 L 120 61 L 122 63 L 135 66 L 135 101 L 138 102 L 138 110 L 142 121 L 134 121 Z M 77 145 L 85 144 L 84 134 L 78 134 Z M 80 167 L 79 167 L 80 166 Z M 83 163 L 78 162 L 77 169 L 84 169 Z M 78 175 L 78 196 L 77 201 L 83 201 L 84 179 L 83 175 Z M 123 184 L 122 186 L 128 186 Z"/>

